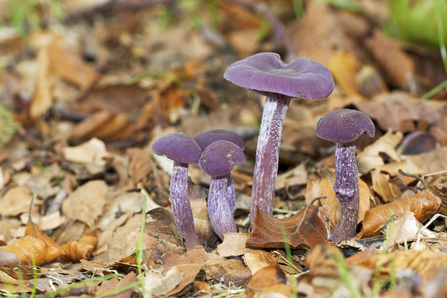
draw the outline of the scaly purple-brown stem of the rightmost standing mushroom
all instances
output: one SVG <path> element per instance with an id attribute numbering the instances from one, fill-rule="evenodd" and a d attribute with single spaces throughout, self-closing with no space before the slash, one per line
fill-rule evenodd
<path id="1" fill-rule="evenodd" d="M 335 195 L 340 201 L 340 219 L 329 240 L 354 237 L 359 216 L 359 179 L 355 143 L 337 143 L 335 149 Z"/>

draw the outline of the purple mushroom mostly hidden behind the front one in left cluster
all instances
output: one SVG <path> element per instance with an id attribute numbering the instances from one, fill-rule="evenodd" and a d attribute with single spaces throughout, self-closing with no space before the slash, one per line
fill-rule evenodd
<path id="1" fill-rule="evenodd" d="M 211 145 L 212 143 L 216 141 L 229 141 L 232 142 L 241 148 L 241 150 L 245 149 L 245 143 L 244 140 L 240 135 L 238 135 L 235 132 L 225 130 L 225 129 L 211 129 L 211 130 L 205 130 L 198 134 L 196 134 L 193 137 L 194 141 L 199 144 L 200 149 L 202 149 L 202 152 Z M 228 202 L 230 204 L 231 212 L 234 213 L 234 210 L 236 209 L 236 194 L 234 192 L 234 184 L 233 184 L 233 178 L 231 177 L 231 172 L 228 173 L 227 177 L 227 186 L 228 186 Z"/>

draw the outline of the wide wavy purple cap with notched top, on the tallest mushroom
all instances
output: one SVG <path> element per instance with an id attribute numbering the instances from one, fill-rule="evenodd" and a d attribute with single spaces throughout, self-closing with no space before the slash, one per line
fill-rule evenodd
<path id="1" fill-rule="evenodd" d="M 334 79 L 324 65 L 308 58 L 286 64 L 277 53 L 269 52 L 231 64 L 224 78 L 269 97 L 322 99 L 334 90 Z"/>

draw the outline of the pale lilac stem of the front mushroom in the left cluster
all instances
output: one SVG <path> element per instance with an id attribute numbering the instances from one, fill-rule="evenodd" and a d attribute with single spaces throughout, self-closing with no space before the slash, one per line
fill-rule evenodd
<path id="1" fill-rule="evenodd" d="M 224 233 L 237 233 L 233 212 L 227 199 L 228 175 L 212 176 L 208 195 L 208 215 L 214 232 L 221 240 Z"/>

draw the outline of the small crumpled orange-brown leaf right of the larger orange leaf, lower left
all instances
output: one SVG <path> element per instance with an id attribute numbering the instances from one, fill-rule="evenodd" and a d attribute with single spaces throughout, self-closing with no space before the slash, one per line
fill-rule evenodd
<path id="1" fill-rule="evenodd" d="M 98 238 L 95 236 L 84 235 L 78 241 L 70 241 L 62 244 L 61 248 L 65 252 L 62 261 L 77 263 L 81 259 L 89 259 L 97 243 Z"/>

